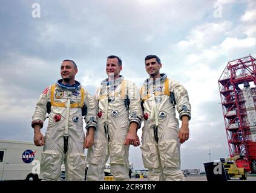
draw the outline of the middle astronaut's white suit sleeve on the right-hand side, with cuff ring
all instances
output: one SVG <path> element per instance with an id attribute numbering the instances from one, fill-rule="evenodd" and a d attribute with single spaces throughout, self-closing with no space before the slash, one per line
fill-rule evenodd
<path id="1" fill-rule="evenodd" d="M 136 122 L 138 128 L 141 126 L 142 122 L 142 108 L 140 106 L 140 92 L 136 84 L 127 81 L 126 89 L 128 92 L 128 97 L 130 99 L 130 124 L 131 122 Z"/>

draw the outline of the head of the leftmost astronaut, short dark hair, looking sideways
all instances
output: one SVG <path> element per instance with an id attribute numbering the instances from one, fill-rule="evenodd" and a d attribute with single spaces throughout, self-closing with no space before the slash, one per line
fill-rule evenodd
<path id="1" fill-rule="evenodd" d="M 65 81 L 74 80 L 77 68 L 74 67 L 73 62 L 65 61 L 61 64 L 61 77 Z"/>

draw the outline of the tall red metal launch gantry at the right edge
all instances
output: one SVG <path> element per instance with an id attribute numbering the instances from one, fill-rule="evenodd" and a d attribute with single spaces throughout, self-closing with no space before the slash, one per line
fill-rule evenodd
<path id="1" fill-rule="evenodd" d="M 256 60 L 251 55 L 228 62 L 218 80 L 231 157 L 256 173 Z"/>

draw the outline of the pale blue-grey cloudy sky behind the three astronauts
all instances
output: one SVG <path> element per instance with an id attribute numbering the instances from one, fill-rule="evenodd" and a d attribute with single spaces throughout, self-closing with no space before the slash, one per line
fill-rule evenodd
<path id="1" fill-rule="evenodd" d="M 62 60 L 77 63 L 77 80 L 93 94 L 108 55 L 119 55 L 124 77 L 140 86 L 144 58 L 156 54 L 192 105 L 182 169 L 204 169 L 209 150 L 212 161 L 228 157 L 218 78 L 230 60 L 256 57 L 256 1 L 0 2 L 0 138 L 33 141 L 36 101 L 61 78 Z M 131 147 L 130 162 L 143 168 L 140 148 Z"/>

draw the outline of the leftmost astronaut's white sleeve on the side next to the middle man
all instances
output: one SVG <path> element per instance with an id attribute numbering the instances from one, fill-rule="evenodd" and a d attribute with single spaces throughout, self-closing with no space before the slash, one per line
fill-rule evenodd
<path id="1" fill-rule="evenodd" d="M 87 115 L 85 115 L 85 122 L 87 123 L 86 129 L 94 127 L 97 129 L 96 109 L 94 105 L 93 97 L 85 92 L 85 105 L 87 106 Z"/>

